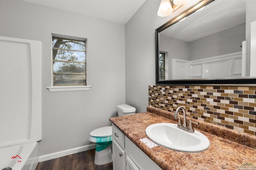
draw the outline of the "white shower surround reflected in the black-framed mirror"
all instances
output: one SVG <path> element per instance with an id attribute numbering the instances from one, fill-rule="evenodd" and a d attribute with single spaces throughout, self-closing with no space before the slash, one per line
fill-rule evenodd
<path id="1" fill-rule="evenodd" d="M 242 77 L 242 51 L 192 61 L 172 59 L 173 79 Z"/>

